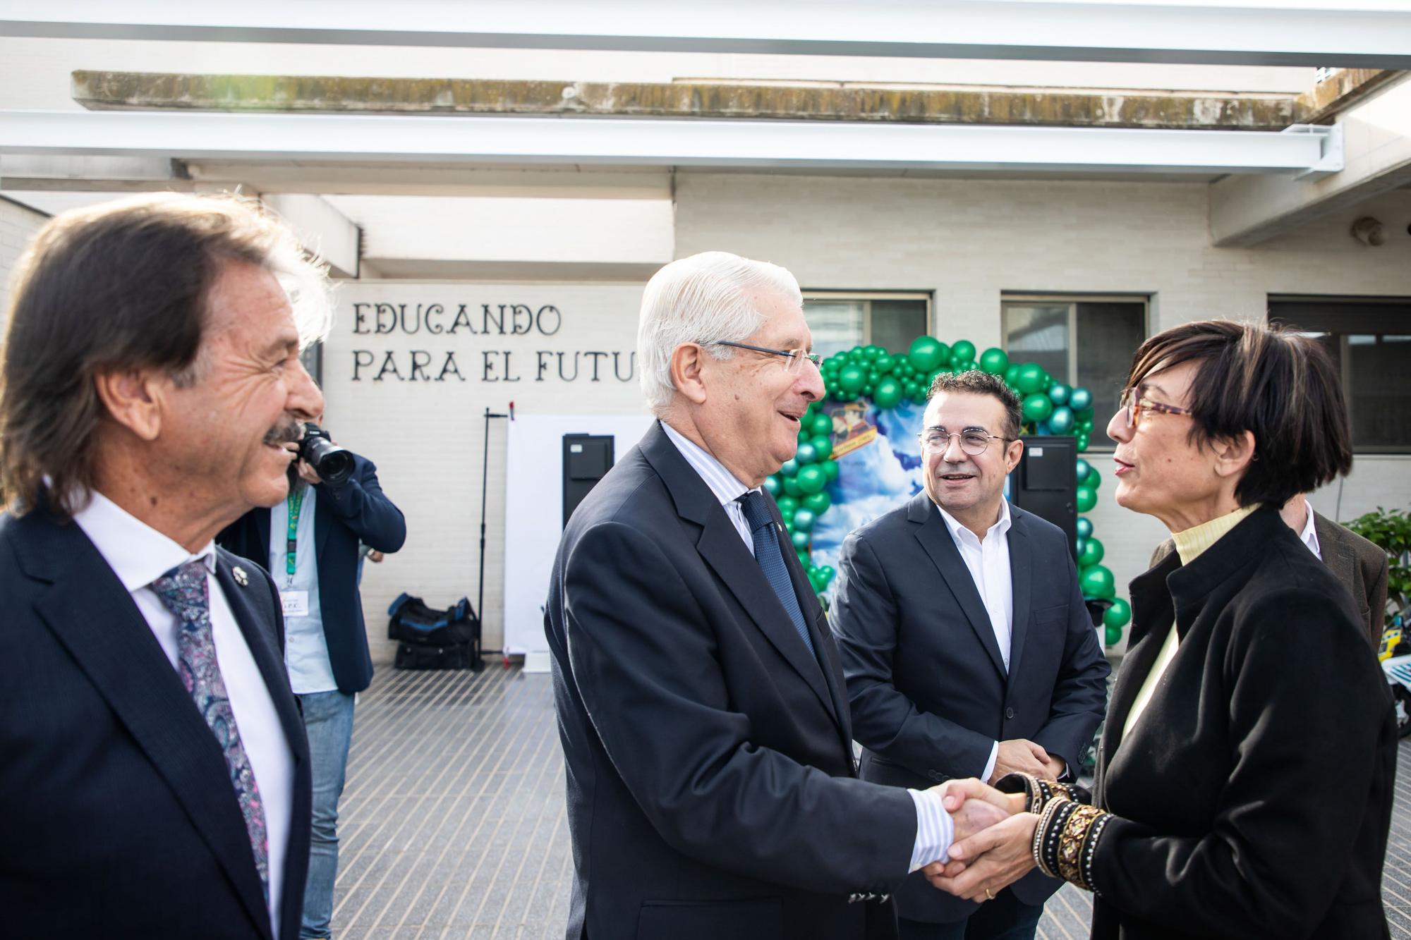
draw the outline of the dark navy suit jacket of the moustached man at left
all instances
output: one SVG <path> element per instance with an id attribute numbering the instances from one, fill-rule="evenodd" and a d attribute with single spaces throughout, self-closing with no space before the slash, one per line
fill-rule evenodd
<path id="1" fill-rule="evenodd" d="M 309 862 L 309 749 L 279 603 L 258 566 L 219 549 L 216 577 L 293 754 L 279 920 L 291 939 Z M 0 517 L 0 933 L 270 937 L 220 745 L 83 531 L 47 507 Z"/>

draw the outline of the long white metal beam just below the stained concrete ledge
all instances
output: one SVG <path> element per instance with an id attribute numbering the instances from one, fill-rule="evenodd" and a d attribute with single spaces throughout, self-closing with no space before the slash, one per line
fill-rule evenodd
<path id="1" fill-rule="evenodd" d="M 258 162 L 1308 174 L 1342 169 L 1307 133 L 834 121 L 0 112 L 0 154 Z M 3 172 L 3 167 L 0 167 Z"/>

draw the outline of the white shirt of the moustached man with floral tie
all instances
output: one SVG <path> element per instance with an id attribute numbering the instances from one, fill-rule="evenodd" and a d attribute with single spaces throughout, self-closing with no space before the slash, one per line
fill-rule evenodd
<path id="1" fill-rule="evenodd" d="M 162 604 L 152 582 L 179 565 L 199 560 L 206 566 L 210 596 L 210 629 L 216 662 L 226 683 L 226 694 L 240 728 L 240 742 L 250 758 L 250 768 L 264 803 L 265 830 L 270 840 L 270 923 L 279 937 L 279 900 L 284 891 L 284 857 L 289 844 L 293 806 L 293 752 L 279 724 L 274 699 L 265 687 L 240 624 L 230 611 L 226 594 L 216 580 L 216 545 L 207 543 L 192 555 L 145 522 L 126 512 L 102 493 L 93 493 L 87 505 L 73 514 L 73 521 L 113 569 L 131 594 L 152 635 L 176 669 L 176 637 L 181 622 Z M 192 709 L 195 709 L 192 703 Z M 234 790 L 231 790 L 234 807 Z"/>

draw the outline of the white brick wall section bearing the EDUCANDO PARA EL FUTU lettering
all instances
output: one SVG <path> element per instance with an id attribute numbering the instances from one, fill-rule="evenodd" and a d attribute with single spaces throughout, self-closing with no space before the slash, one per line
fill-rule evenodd
<path id="1" fill-rule="evenodd" d="M 387 605 L 401 591 L 425 597 L 426 603 L 444 607 L 470 597 L 476 603 L 480 565 L 480 483 L 484 460 L 484 412 L 505 412 L 515 402 L 519 415 L 571 414 L 643 414 L 645 406 L 636 378 L 618 381 L 611 358 L 600 361 L 600 381 L 591 381 L 591 363 L 580 357 L 580 377 L 557 377 L 557 357 L 550 357 L 542 381 L 536 353 L 566 351 L 564 373 L 573 374 L 574 351 L 619 351 L 622 374 L 628 354 L 636 346 L 636 313 L 641 285 L 523 285 L 523 284 L 425 284 L 405 281 L 344 282 L 339 298 L 339 316 L 323 351 L 323 387 L 327 399 L 326 423 L 339 443 L 371 459 L 388 497 L 406 515 L 406 546 L 387 556 L 382 565 L 363 569 L 363 608 L 368 622 L 373 656 L 387 662 L 392 645 L 387 641 Z M 415 335 L 398 329 L 377 335 L 375 305 L 406 305 L 408 322 L 415 322 L 418 303 L 423 309 L 439 303 L 444 313 L 433 318 L 442 329 L 456 322 L 461 303 L 471 315 L 474 329 L 484 326 L 481 305 L 522 303 L 538 312 L 545 305 L 557 308 L 562 326 L 552 336 L 531 332 L 519 336 L 473 335 L 460 326 L 454 336 Z M 368 305 L 368 306 L 357 306 Z M 363 312 L 361 326 L 357 319 Z M 555 318 L 545 313 L 546 327 Z M 389 322 L 384 313 L 384 323 Z M 508 322 L 507 322 L 507 329 Z M 374 353 L 373 366 L 356 368 L 357 350 Z M 423 350 L 430 360 L 409 381 L 412 350 Z M 492 351 L 491 375 L 485 381 L 484 353 Z M 512 374 L 519 381 L 504 381 L 504 351 L 509 351 Z M 388 373 L 375 375 L 392 351 L 398 371 L 408 381 Z M 437 377 L 446 353 L 454 353 L 456 366 L 466 377 L 459 381 L 425 381 Z M 365 361 L 368 357 L 364 356 Z M 360 375 L 353 381 L 354 373 Z M 499 649 L 504 629 L 504 545 L 514 534 L 505 532 L 505 422 L 490 425 L 490 502 L 487 512 L 485 552 L 485 634 L 487 649 Z M 635 442 L 621 442 L 618 454 Z M 543 494 L 545 511 L 559 512 L 562 494 Z"/>

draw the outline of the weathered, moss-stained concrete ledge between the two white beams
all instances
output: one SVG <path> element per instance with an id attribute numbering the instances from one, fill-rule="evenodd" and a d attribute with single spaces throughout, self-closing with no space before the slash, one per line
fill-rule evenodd
<path id="1" fill-rule="evenodd" d="M 866 88 L 824 82 L 516 82 L 79 71 L 73 72 L 73 100 L 90 110 L 574 114 L 1181 130 L 1283 130 L 1301 121 L 1292 95 Z"/>

